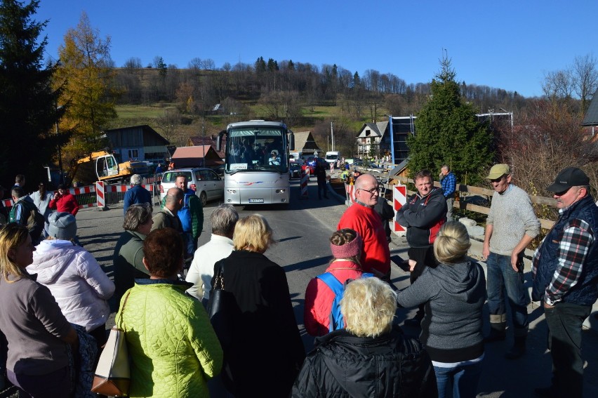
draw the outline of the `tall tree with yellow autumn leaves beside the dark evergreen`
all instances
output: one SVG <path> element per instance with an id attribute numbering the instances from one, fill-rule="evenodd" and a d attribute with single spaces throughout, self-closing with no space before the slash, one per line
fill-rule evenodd
<path id="1" fill-rule="evenodd" d="M 85 12 L 77 27 L 65 34 L 58 54 L 55 86 L 62 87 L 59 105 L 66 108 L 60 129 L 72 133 L 63 153 L 73 160 L 107 146 L 102 126 L 117 117 L 114 102 L 119 92 L 113 85 L 110 37 L 102 39 Z"/>

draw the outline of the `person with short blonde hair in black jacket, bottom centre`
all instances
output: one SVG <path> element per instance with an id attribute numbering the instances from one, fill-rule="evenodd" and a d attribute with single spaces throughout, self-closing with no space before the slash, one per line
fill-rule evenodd
<path id="1" fill-rule="evenodd" d="M 392 326 L 397 300 L 388 284 L 347 284 L 345 329 L 316 338 L 293 385 L 293 397 L 437 397 L 432 361 L 421 343 Z"/>

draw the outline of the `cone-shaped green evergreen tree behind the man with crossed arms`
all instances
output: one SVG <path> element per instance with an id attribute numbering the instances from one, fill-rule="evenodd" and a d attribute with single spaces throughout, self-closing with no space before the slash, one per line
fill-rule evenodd
<path id="1" fill-rule="evenodd" d="M 489 122 L 480 122 L 472 104 L 460 95 L 451 60 L 441 60 L 432 80 L 432 95 L 416 119 L 416 134 L 407 139 L 411 175 L 427 168 L 432 175 L 447 164 L 458 181 L 474 185 L 493 161 Z"/>

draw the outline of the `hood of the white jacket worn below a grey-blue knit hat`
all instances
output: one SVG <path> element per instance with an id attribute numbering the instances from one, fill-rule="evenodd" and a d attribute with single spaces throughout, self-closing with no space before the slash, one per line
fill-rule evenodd
<path id="1" fill-rule="evenodd" d="M 62 239 L 41 241 L 33 252 L 33 263 L 27 267 L 27 271 L 37 274 L 39 283 L 51 284 L 82 250 L 81 246 Z"/>

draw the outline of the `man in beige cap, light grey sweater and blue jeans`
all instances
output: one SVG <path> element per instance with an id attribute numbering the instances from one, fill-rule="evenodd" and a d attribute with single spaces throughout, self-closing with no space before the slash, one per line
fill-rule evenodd
<path id="1" fill-rule="evenodd" d="M 514 343 L 505 357 L 517 359 L 525 353 L 529 326 L 529 297 L 524 286 L 523 255 L 525 248 L 540 232 L 540 221 L 533 213 L 528 194 L 513 185 L 511 177 L 507 164 L 495 164 L 486 177 L 490 180 L 494 194 L 486 219 L 481 255 L 486 258 L 490 312 L 490 334 L 484 341 L 492 343 L 505 340 L 508 300 L 514 326 Z"/>

